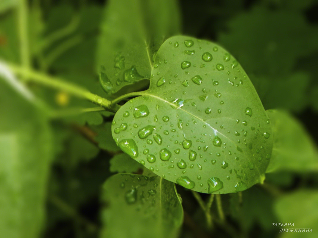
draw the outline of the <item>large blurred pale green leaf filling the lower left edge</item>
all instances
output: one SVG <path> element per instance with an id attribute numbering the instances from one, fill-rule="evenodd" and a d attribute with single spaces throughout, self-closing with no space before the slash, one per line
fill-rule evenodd
<path id="1" fill-rule="evenodd" d="M 43 112 L 0 78 L 1 237 L 38 237 L 45 213 L 52 134 Z"/>

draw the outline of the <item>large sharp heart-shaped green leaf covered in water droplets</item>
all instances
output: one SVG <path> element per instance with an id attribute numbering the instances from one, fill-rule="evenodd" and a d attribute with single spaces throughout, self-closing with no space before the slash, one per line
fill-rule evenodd
<path id="1" fill-rule="evenodd" d="M 263 181 L 273 143 L 268 117 L 244 70 L 223 48 L 169 38 L 156 55 L 150 88 L 140 95 L 115 114 L 112 133 L 155 174 L 203 193 Z"/>

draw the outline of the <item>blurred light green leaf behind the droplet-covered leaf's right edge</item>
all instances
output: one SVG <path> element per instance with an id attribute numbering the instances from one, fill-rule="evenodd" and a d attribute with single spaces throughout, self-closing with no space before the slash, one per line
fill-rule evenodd
<path id="1" fill-rule="evenodd" d="M 300 122 L 289 113 L 267 110 L 272 122 L 273 152 L 266 172 L 318 171 L 317 147 Z"/>

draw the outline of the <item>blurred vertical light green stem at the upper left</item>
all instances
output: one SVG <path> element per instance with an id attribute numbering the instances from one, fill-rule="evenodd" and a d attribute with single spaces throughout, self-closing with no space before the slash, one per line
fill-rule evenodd
<path id="1" fill-rule="evenodd" d="M 28 41 L 28 4 L 21 0 L 18 4 L 18 30 L 20 38 L 20 57 L 24 67 L 30 67 L 29 41 Z"/>

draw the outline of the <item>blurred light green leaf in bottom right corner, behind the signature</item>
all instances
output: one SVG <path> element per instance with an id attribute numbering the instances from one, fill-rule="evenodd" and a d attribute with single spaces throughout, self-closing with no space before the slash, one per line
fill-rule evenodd
<path id="1" fill-rule="evenodd" d="M 275 213 L 279 222 L 294 223 L 294 227 L 281 228 L 313 229 L 312 232 L 283 232 L 281 238 L 315 238 L 318 225 L 318 191 L 298 190 L 279 198 L 275 204 Z"/>

